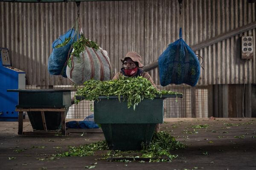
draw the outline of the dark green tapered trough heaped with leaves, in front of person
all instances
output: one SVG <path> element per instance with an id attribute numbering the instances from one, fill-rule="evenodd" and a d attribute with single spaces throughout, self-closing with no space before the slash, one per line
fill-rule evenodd
<path id="1" fill-rule="evenodd" d="M 162 95 L 143 99 L 134 109 L 127 108 L 127 102 L 121 96 L 99 96 L 94 102 L 94 121 L 101 125 L 108 147 L 111 150 L 141 150 L 142 144 L 151 141 L 155 127 L 163 123 L 163 100 L 182 98 L 178 95 Z M 76 96 L 76 99 L 83 99 Z"/>

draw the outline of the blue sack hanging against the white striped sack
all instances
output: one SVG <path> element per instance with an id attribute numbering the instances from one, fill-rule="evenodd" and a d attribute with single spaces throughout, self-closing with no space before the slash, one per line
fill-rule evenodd
<path id="1" fill-rule="evenodd" d="M 73 42 L 77 41 L 77 31 L 75 28 L 71 28 L 65 34 L 58 37 L 57 40 L 52 42 L 52 54 L 50 54 L 48 60 L 48 71 L 52 75 L 61 75 L 62 77 L 67 78 L 66 68 L 67 68 L 67 58 L 69 51 L 71 51 L 71 45 Z M 66 39 L 71 38 L 70 41 L 59 48 L 56 48 L 57 45 L 62 44 Z"/>

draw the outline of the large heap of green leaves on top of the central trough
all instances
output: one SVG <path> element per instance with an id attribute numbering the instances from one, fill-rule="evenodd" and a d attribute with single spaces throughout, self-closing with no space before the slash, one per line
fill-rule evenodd
<path id="1" fill-rule="evenodd" d="M 143 99 L 154 99 L 156 95 L 179 94 L 172 91 L 158 91 L 148 79 L 143 77 L 120 77 L 117 80 L 101 82 L 89 80 L 84 82 L 84 87 L 78 89 L 75 96 L 83 96 L 86 100 L 97 100 L 99 96 L 118 96 L 121 101 L 128 103 L 128 108 L 133 106 L 134 110 Z M 76 100 L 78 103 L 79 100 Z"/>

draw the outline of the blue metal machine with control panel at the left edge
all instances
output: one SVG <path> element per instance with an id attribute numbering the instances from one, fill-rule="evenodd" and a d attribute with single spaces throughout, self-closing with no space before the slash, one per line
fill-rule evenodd
<path id="1" fill-rule="evenodd" d="M 17 121 L 18 92 L 9 93 L 7 89 L 25 89 L 25 72 L 10 64 L 8 48 L 0 48 L 0 121 Z"/>

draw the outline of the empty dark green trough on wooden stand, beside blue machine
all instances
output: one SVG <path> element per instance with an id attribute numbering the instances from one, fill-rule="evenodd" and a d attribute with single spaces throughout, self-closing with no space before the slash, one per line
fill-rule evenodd
<path id="1" fill-rule="evenodd" d="M 71 103 L 71 91 L 76 89 L 9 89 L 18 92 L 18 134 L 66 135 L 65 116 Z M 32 132 L 23 132 L 23 112 L 27 112 Z M 41 114 L 41 115 L 40 115 Z M 60 128 L 61 126 L 61 128 Z"/>

